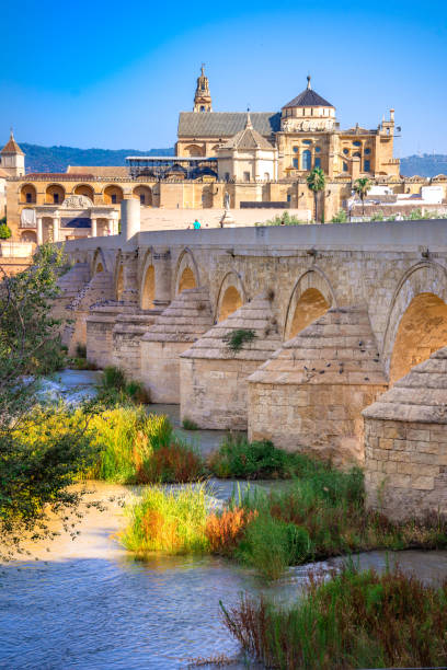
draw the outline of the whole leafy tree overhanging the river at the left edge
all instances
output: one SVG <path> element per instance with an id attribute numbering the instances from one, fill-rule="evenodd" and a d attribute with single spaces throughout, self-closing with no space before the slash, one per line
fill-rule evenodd
<path id="1" fill-rule="evenodd" d="M 67 486 L 92 460 L 89 413 L 74 419 L 69 409 L 37 405 L 39 378 L 62 362 L 51 304 L 67 267 L 60 250 L 44 245 L 23 273 L 0 268 L 0 535 L 10 548 L 26 532 L 48 534 L 49 512 L 67 522 L 82 495 Z M 36 431 L 45 439 L 33 439 Z"/>

